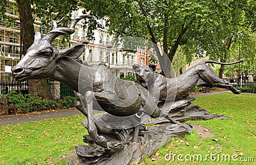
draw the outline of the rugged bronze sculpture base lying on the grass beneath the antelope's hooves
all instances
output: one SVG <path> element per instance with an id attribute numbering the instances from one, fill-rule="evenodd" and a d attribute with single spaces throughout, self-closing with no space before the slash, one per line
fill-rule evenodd
<path id="1" fill-rule="evenodd" d="M 78 159 L 68 164 L 136 164 L 145 156 L 154 154 L 164 143 L 172 140 L 172 137 L 191 133 L 192 128 L 187 124 L 161 124 L 150 126 L 140 132 L 138 142 L 124 143 L 115 153 L 111 150 L 93 145 L 78 145 L 76 153 Z M 133 133 L 133 132 L 132 132 Z M 130 134 L 132 138 L 132 134 Z"/>

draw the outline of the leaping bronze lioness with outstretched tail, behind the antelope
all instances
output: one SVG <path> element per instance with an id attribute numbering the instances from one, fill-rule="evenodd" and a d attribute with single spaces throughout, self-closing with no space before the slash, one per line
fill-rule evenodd
<path id="1" fill-rule="evenodd" d="M 154 97 L 155 103 L 158 100 L 179 99 L 182 96 L 188 95 L 192 89 L 196 86 L 204 85 L 207 87 L 220 87 L 231 90 L 234 94 L 240 94 L 240 90 L 237 90 L 232 83 L 227 82 L 219 78 L 214 71 L 207 66 L 207 63 L 231 65 L 238 62 L 243 62 L 241 59 L 237 62 L 223 63 L 216 61 L 202 61 L 196 66 L 188 69 L 184 74 L 177 76 L 176 78 L 166 78 L 163 75 L 154 73 L 153 69 L 148 66 L 139 66 L 134 64 L 132 68 L 137 75 L 140 84 L 143 87 L 147 87 L 149 92 Z M 173 95 L 176 92 L 176 96 L 167 97 Z"/>

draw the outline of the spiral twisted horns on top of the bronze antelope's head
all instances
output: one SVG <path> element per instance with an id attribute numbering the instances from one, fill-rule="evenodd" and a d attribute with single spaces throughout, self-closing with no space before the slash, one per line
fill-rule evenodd
<path id="1" fill-rule="evenodd" d="M 42 40 L 47 40 L 49 41 L 49 43 L 51 43 L 53 41 L 54 38 L 63 35 L 63 34 L 72 34 L 73 32 L 75 32 L 75 26 L 77 24 L 77 22 L 79 22 L 79 20 L 86 18 L 90 15 L 91 11 L 88 11 L 88 13 L 83 14 L 83 15 L 78 15 L 76 18 L 74 18 L 74 20 L 72 20 L 72 22 L 70 23 L 69 27 L 58 27 L 58 28 L 54 28 L 52 29 L 52 31 L 48 32 L 44 38 L 42 38 Z M 61 18 L 62 20 L 62 18 Z M 60 22 L 60 21 L 59 21 Z M 58 22 L 56 22 L 56 26 L 57 27 Z"/>

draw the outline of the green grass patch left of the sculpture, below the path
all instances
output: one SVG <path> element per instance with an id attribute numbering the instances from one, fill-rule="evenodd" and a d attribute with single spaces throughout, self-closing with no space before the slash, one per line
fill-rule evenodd
<path id="1" fill-rule="evenodd" d="M 84 145 L 83 115 L 0 127 L 0 164 L 67 164 L 65 155 Z"/>

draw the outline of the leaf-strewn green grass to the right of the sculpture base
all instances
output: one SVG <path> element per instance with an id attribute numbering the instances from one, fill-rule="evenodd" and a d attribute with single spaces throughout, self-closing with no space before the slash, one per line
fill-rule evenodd
<path id="1" fill-rule="evenodd" d="M 196 123 L 209 128 L 214 136 L 202 138 L 193 131 L 192 134 L 187 134 L 184 138 L 173 139 L 170 143 L 166 143 L 164 147 L 157 150 L 155 155 L 146 158 L 141 164 L 256 164 L 256 95 L 219 94 L 198 97 L 193 104 L 205 108 L 211 113 L 226 115 L 230 117 L 230 120 L 188 121 L 188 124 Z M 181 158 L 184 161 L 179 161 L 177 156 L 173 161 L 173 155 L 170 161 L 166 161 L 164 158 L 171 152 L 183 156 L 188 154 L 188 160 L 189 155 L 202 155 L 204 160 L 207 154 L 212 153 L 217 156 L 217 147 L 222 149 L 219 154 L 220 161 L 218 161 L 218 157 L 215 161 L 211 161 L 210 157 L 207 157 L 207 161 L 197 161 L 197 159 L 195 159 L 196 161 L 186 161 L 185 157 Z M 221 161 L 223 154 L 230 156 L 236 154 L 238 155 L 237 161 L 233 161 L 232 158 L 230 161 L 226 161 L 225 157 Z M 253 162 L 241 162 L 241 158 L 251 157 Z"/>

